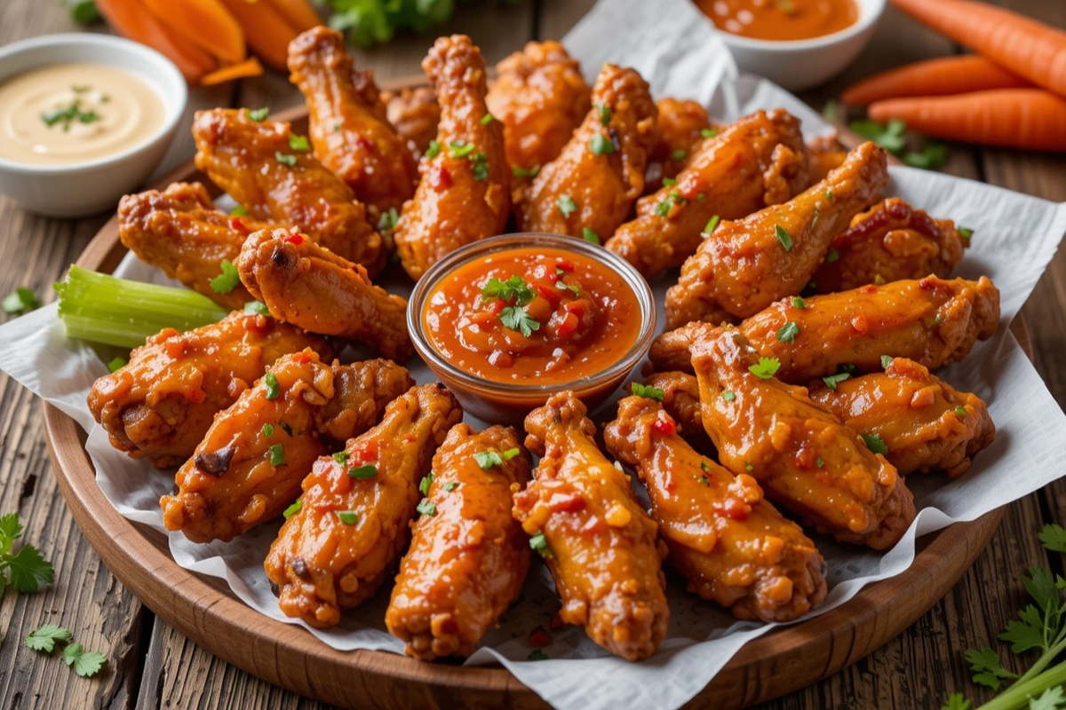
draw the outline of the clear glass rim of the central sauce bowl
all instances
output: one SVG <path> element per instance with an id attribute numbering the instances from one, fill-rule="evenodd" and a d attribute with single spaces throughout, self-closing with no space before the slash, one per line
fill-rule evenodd
<path id="1" fill-rule="evenodd" d="M 508 251 L 515 248 L 542 246 L 563 251 L 580 253 L 601 264 L 605 264 L 618 274 L 626 285 L 632 291 L 641 308 L 641 330 L 629 350 L 607 367 L 593 375 L 558 382 L 552 384 L 515 384 L 498 382 L 477 377 L 466 373 L 448 362 L 430 343 L 422 328 L 422 313 L 427 296 L 446 277 L 459 266 L 490 253 Z M 418 279 L 407 300 L 407 332 L 415 349 L 426 365 L 441 379 L 452 379 L 458 386 L 467 387 L 474 393 L 494 392 L 501 395 L 524 395 L 527 397 L 546 394 L 550 395 L 564 390 L 592 390 L 609 383 L 616 378 L 625 377 L 644 359 L 651 341 L 656 336 L 658 313 L 651 286 L 643 276 L 625 259 L 603 247 L 584 240 L 552 234 L 549 232 L 508 232 L 478 242 L 464 245 L 452 251 L 438 262 L 435 262 Z M 447 384 L 447 382 L 446 382 Z"/>

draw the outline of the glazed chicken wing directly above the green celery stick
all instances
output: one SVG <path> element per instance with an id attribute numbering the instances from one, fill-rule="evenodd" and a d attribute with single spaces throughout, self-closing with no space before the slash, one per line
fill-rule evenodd
<path id="1" fill-rule="evenodd" d="M 222 274 L 223 261 L 237 261 L 244 237 L 264 227 L 251 217 L 215 210 L 198 182 L 175 182 L 163 192 L 126 195 L 118 202 L 118 238 L 127 249 L 230 310 L 244 308 L 252 296 L 242 285 L 219 293 L 211 279 Z"/>

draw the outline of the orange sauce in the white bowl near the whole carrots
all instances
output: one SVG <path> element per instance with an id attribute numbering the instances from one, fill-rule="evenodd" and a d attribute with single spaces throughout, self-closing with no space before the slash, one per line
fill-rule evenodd
<path id="1" fill-rule="evenodd" d="M 694 0 L 715 27 L 755 39 L 811 39 L 855 24 L 855 0 Z M 935 0 L 931 0 L 935 1 Z"/>

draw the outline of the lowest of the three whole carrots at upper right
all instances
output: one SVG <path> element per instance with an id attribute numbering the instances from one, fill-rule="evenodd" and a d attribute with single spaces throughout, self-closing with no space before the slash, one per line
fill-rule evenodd
<path id="1" fill-rule="evenodd" d="M 984 146 L 1066 150 L 1066 99 L 1040 88 L 887 99 L 870 104 L 878 121 L 899 118 L 920 133 Z"/>

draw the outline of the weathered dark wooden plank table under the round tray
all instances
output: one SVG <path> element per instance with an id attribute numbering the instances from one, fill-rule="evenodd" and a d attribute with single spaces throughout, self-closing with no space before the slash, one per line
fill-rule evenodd
<path id="1" fill-rule="evenodd" d="M 1051 24 L 1066 28 L 1060 0 L 996 0 Z M 562 36 L 594 0 L 519 0 L 500 5 L 483 0 L 461 5 L 437 32 L 465 32 L 489 62 L 531 38 Z M 77 31 L 58 0 L 0 3 L 0 44 L 51 32 Z M 106 32 L 103 26 L 91 31 Z M 358 64 L 381 79 L 417 73 L 432 36 L 401 36 L 387 47 L 358 52 Z M 821 106 L 842 86 L 904 62 L 951 54 L 959 48 L 891 9 L 855 66 L 830 85 L 805 95 Z M 211 92 L 196 92 L 198 105 L 270 105 L 300 101 L 284 77 L 270 75 Z M 188 160 L 188 133 L 168 162 Z M 947 172 L 982 180 L 1049 200 L 1066 200 L 1066 160 L 1011 150 L 953 146 Z M 30 286 L 45 300 L 50 287 L 76 260 L 108 215 L 79 220 L 36 217 L 0 197 L 0 295 Z M 1066 254 L 1052 261 L 1022 311 L 1032 331 L 1036 366 L 1060 404 L 1066 402 Z M 1035 434 L 1035 432 L 1034 432 Z M 17 511 L 25 539 L 55 566 L 54 585 L 37 595 L 9 591 L 0 598 L 0 697 L 5 708 L 302 708 L 322 704 L 263 682 L 211 656 L 158 620 L 115 579 L 75 525 L 52 473 L 44 437 L 41 403 L 0 375 L 0 512 Z M 1008 472 L 1005 472 L 1008 473 Z M 1064 466 L 1063 473 L 1066 473 Z M 973 687 L 963 649 L 990 645 L 1019 608 L 1017 582 L 1025 568 L 1056 565 L 1036 533 L 1050 522 L 1066 522 L 1066 482 L 1007 507 L 999 531 L 973 567 L 941 601 L 895 640 L 865 660 L 807 689 L 768 703 L 792 708 L 937 708 L 952 691 L 980 701 L 989 693 Z M 61 624 L 86 648 L 104 651 L 108 668 L 79 678 L 59 658 L 35 654 L 22 638 L 44 623 Z"/>

